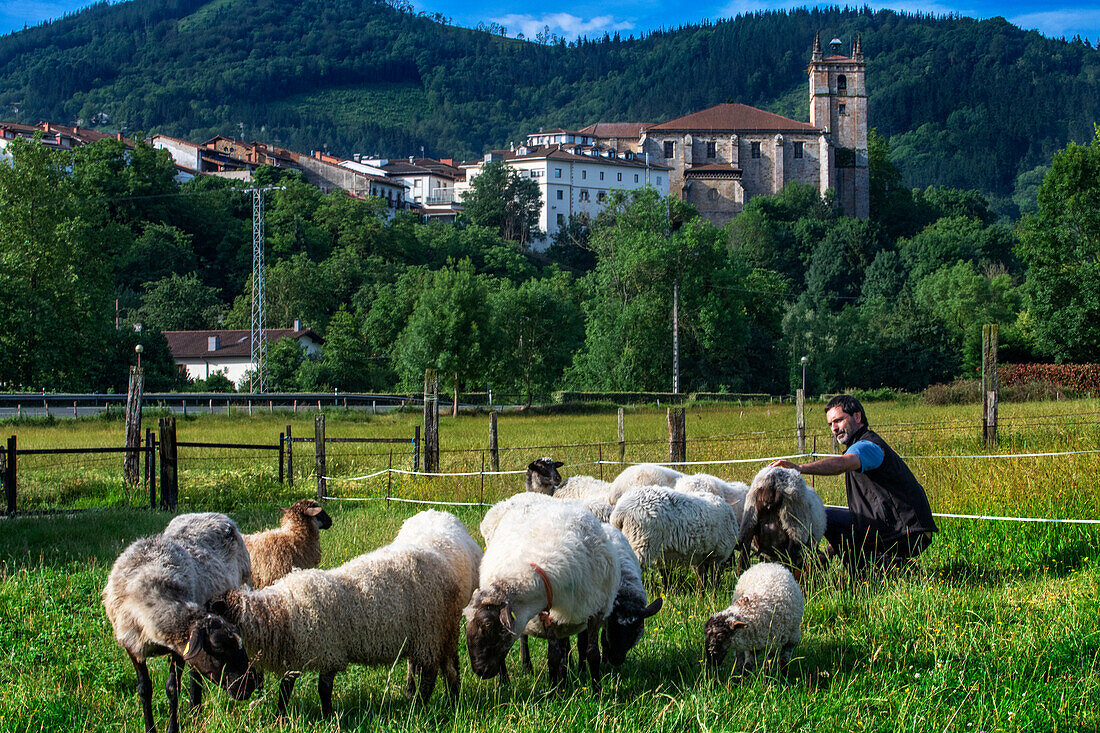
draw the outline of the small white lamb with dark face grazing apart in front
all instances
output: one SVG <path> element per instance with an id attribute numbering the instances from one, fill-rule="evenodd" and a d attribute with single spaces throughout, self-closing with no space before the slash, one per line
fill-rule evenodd
<path id="1" fill-rule="evenodd" d="M 755 653 L 780 653 L 785 674 L 791 654 L 802 638 L 805 600 L 790 570 L 776 562 L 752 566 L 737 580 L 734 601 L 711 616 L 703 627 L 707 669 L 716 671 L 726 654 L 737 656 L 737 671 L 752 671 Z"/>

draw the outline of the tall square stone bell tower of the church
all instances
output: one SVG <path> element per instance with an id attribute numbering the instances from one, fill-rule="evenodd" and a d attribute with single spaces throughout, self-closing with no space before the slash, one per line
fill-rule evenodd
<path id="1" fill-rule="evenodd" d="M 822 156 L 822 188 L 836 192 L 846 215 L 866 219 L 870 176 L 862 37 L 856 36 L 850 56 L 842 55 L 839 39 L 829 46 L 825 55 L 818 33 L 810 62 L 810 123 L 825 131 L 828 145 L 828 155 Z"/>

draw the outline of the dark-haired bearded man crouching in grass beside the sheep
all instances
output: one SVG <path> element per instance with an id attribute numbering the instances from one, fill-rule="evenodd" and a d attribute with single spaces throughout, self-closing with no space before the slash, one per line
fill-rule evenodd
<path id="1" fill-rule="evenodd" d="M 932 544 L 936 523 L 924 488 L 886 440 L 867 426 L 867 412 L 851 395 L 825 405 L 825 419 L 846 448 L 809 463 L 787 460 L 772 466 L 814 475 L 844 473 L 848 507 L 825 508 L 828 556 L 854 566 L 869 560 L 901 566 Z"/>

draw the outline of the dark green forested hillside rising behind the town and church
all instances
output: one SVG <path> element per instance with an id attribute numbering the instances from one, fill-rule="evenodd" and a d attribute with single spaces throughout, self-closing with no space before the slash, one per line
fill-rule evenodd
<path id="1" fill-rule="evenodd" d="M 1100 119 L 1100 52 L 1003 19 L 793 10 L 541 44 L 395 4 L 101 3 L 0 39 L 0 119 L 462 157 L 539 128 L 726 100 L 807 119 L 814 34 L 861 33 L 870 123 L 904 184 L 979 189 L 1009 215 L 1034 207 L 1054 152 Z"/>

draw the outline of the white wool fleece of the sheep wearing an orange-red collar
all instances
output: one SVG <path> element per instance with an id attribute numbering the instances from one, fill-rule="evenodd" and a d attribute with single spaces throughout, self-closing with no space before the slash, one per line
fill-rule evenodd
<path id="1" fill-rule="evenodd" d="M 515 609 L 517 628 L 561 638 L 585 628 L 591 619 L 607 617 L 619 587 L 619 564 L 591 512 L 546 499 L 517 503 L 502 513 L 491 530 L 472 604 L 483 594 L 506 599 Z M 549 627 L 537 617 L 548 593 L 532 562 L 550 580 Z"/>

